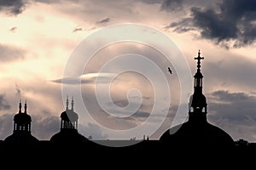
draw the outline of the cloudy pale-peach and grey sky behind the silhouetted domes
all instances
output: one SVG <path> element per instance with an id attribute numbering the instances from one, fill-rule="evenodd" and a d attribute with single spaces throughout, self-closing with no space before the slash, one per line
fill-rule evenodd
<path id="1" fill-rule="evenodd" d="M 185 108 L 183 115 L 188 116 L 193 85 L 187 84 L 191 85 L 186 89 L 189 93 L 184 94 L 187 101 L 179 102 L 183 94 L 180 79 L 189 77 L 188 81 L 192 80 L 196 71 L 194 57 L 201 49 L 205 57 L 201 70 L 208 122 L 224 129 L 234 140 L 256 142 L 255 1 L 106 2 L 0 0 L 0 139 L 12 133 L 13 117 L 18 112 L 20 99 L 22 103 L 27 100 L 32 135 L 42 140 L 50 139 L 60 130 L 66 94 L 69 99 L 74 95 L 79 133 L 85 137 L 142 139 L 146 134 L 150 139 L 159 139 L 175 120 L 177 107 Z M 162 33 L 175 45 L 170 43 L 169 46 L 158 38 L 154 39 L 154 44 L 173 53 L 180 52 L 185 62 L 170 62 L 160 51 L 140 42 L 117 42 L 99 49 L 80 74 L 65 77 L 76 54 L 74 51 L 113 41 L 119 32 L 105 33 L 88 44 L 83 43 L 84 39 L 99 35 L 99 31 L 108 30 L 109 26 L 125 23 L 148 26 Z M 143 38 L 143 35 L 136 36 Z M 120 56 L 123 60 L 115 60 Z M 152 69 L 154 65 L 148 64 L 147 59 L 158 67 Z M 79 66 L 84 64 L 80 61 L 75 61 L 68 71 L 77 73 Z M 189 65 L 189 74 L 177 71 L 184 63 Z M 132 71 L 141 65 L 143 73 Z M 172 75 L 166 71 L 168 65 L 172 67 Z M 129 67 L 131 71 L 122 72 Z M 115 72 L 119 75 L 114 75 Z M 68 91 L 74 94 L 63 93 L 63 87 L 74 90 Z M 75 94 L 78 88 L 82 91 L 82 101 Z M 96 88 L 99 97 L 104 98 L 102 104 L 98 104 Z M 108 92 L 110 100 L 106 97 Z M 171 103 L 167 94 L 171 94 Z M 86 113 L 81 113 L 81 103 Z M 160 112 L 152 114 L 154 110 Z"/>

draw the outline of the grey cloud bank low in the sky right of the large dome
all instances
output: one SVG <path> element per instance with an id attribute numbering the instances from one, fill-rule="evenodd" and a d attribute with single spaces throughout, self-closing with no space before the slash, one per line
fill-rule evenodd
<path id="1" fill-rule="evenodd" d="M 256 141 L 256 96 L 225 90 L 213 92 L 208 98 L 208 120 L 230 133 L 233 139 Z"/>

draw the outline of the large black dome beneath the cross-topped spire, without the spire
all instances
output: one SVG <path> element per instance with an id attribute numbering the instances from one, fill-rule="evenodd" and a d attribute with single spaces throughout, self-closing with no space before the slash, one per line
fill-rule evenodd
<path id="1" fill-rule="evenodd" d="M 228 133 L 208 122 L 184 122 L 167 130 L 160 141 L 186 145 L 232 145 L 234 140 Z"/>

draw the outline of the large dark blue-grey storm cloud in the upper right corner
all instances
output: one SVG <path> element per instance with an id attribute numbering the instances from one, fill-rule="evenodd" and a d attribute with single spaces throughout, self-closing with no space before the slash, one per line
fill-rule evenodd
<path id="1" fill-rule="evenodd" d="M 191 17 L 174 22 L 176 31 L 197 29 L 202 38 L 213 40 L 227 48 L 250 45 L 256 38 L 256 1 L 225 0 L 218 8 L 193 7 Z M 235 41 L 230 44 L 230 41 Z"/>

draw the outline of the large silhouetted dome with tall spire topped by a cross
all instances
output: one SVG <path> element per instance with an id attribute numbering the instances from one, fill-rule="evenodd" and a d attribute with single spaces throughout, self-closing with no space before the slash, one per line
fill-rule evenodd
<path id="1" fill-rule="evenodd" d="M 232 146 L 233 139 L 219 127 L 207 122 L 207 98 L 202 93 L 201 52 L 198 52 L 194 94 L 189 99 L 189 120 L 168 129 L 161 137 L 164 144 L 182 146 Z"/>

